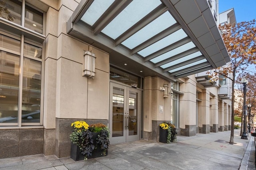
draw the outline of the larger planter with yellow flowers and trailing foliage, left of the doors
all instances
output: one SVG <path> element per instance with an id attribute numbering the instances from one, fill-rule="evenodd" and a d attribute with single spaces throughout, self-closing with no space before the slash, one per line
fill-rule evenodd
<path id="1" fill-rule="evenodd" d="M 88 125 L 85 121 L 75 121 L 71 126 L 74 128 L 70 134 L 72 159 L 87 160 L 108 154 L 110 133 L 106 125 Z"/>

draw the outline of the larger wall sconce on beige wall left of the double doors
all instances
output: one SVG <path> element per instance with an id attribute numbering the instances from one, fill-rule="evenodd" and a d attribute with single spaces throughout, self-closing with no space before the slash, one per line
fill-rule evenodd
<path id="1" fill-rule="evenodd" d="M 94 53 L 85 51 L 84 53 L 84 73 L 83 76 L 93 78 L 95 76 L 95 59 Z"/>

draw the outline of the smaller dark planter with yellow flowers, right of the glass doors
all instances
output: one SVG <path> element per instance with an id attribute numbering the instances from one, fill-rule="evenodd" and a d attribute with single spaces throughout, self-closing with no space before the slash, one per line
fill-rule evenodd
<path id="1" fill-rule="evenodd" d="M 171 143 L 177 140 L 176 127 L 172 123 L 161 123 L 159 131 L 159 142 Z"/>

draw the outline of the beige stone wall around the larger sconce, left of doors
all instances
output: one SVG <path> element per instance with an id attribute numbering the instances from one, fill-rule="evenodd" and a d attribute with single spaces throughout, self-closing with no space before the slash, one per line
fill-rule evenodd
<path id="1" fill-rule="evenodd" d="M 54 129 L 56 117 L 108 119 L 109 55 L 66 33 L 66 22 L 79 1 L 42 2 L 50 5 L 46 13 L 44 127 Z M 95 54 L 94 79 L 82 76 L 84 51 Z"/>

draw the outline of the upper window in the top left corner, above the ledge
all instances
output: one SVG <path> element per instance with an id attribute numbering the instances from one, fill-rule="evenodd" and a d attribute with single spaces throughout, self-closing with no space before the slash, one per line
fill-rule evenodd
<path id="1" fill-rule="evenodd" d="M 25 0 L 0 0 L 0 17 L 42 34 L 43 12 L 27 3 L 22 6 L 22 3 Z"/>

